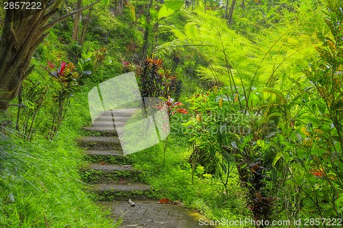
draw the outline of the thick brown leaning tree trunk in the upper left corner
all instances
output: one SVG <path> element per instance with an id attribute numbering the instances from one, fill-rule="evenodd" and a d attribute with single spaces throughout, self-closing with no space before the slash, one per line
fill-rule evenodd
<path id="1" fill-rule="evenodd" d="M 0 44 L 0 110 L 8 109 L 23 80 L 33 71 L 32 55 L 47 37 L 47 30 L 101 0 L 51 21 L 63 1 L 41 0 L 41 10 L 5 10 Z"/>

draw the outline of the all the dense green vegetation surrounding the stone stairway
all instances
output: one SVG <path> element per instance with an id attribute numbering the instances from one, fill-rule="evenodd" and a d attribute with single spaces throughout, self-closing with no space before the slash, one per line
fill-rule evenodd
<path id="1" fill-rule="evenodd" d="M 80 4 L 62 1 L 50 20 Z M 88 91 L 130 71 L 170 111 L 168 138 L 130 155 L 152 197 L 211 220 L 338 223 L 342 8 L 339 0 L 111 1 L 56 23 L 1 112 L 0 227 L 117 227 L 83 191 L 75 138 L 90 121 Z"/>

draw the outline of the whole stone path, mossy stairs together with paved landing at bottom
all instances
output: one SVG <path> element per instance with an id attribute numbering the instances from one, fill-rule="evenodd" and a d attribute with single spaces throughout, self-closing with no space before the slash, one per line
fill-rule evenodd
<path id="1" fill-rule="evenodd" d="M 77 140 L 89 162 L 81 170 L 82 181 L 97 195 L 98 205 L 110 210 L 110 218 L 121 221 L 121 227 L 206 227 L 199 224 L 199 219 L 203 218 L 200 214 L 182 204 L 158 203 L 157 199 L 149 198 L 152 189 L 141 181 L 141 171 L 123 155 L 117 134 L 117 128 L 123 127 L 135 111 L 137 109 L 113 111 L 116 117 L 120 116 L 115 123 L 113 112 L 104 112 L 91 127 L 84 128 L 88 136 Z"/>

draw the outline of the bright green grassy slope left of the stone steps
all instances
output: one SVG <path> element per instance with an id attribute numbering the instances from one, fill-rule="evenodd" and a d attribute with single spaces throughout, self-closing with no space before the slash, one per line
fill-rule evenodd
<path id="1" fill-rule="evenodd" d="M 17 162 L 23 169 L 16 173 L 21 178 L 9 175 L 8 188 L 0 192 L 0 227 L 117 227 L 104 218 L 106 213 L 91 201 L 80 182 L 82 154 L 74 139 L 88 120 L 86 107 L 86 97 L 78 94 L 54 141 L 42 137 L 20 144 L 27 156 L 24 164 Z"/>

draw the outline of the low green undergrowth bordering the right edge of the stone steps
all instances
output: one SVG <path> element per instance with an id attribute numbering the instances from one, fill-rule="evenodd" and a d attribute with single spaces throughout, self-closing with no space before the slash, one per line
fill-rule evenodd
<path id="1" fill-rule="evenodd" d="M 222 184 L 198 166 L 193 184 L 189 156 L 191 149 L 185 138 L 171 132 L 169 149 L 163 166 L 163 143 L 130 155 L 135 166 L 143 170 L 144 180 L 154 189 L 152 197 L 180 201 L 210 220 L 248 218 L 245 192 L 239 186 L 237 173 L 230 174 L 228 194 Z M 247 226 L 248 227 L 248 226 Z"/>

